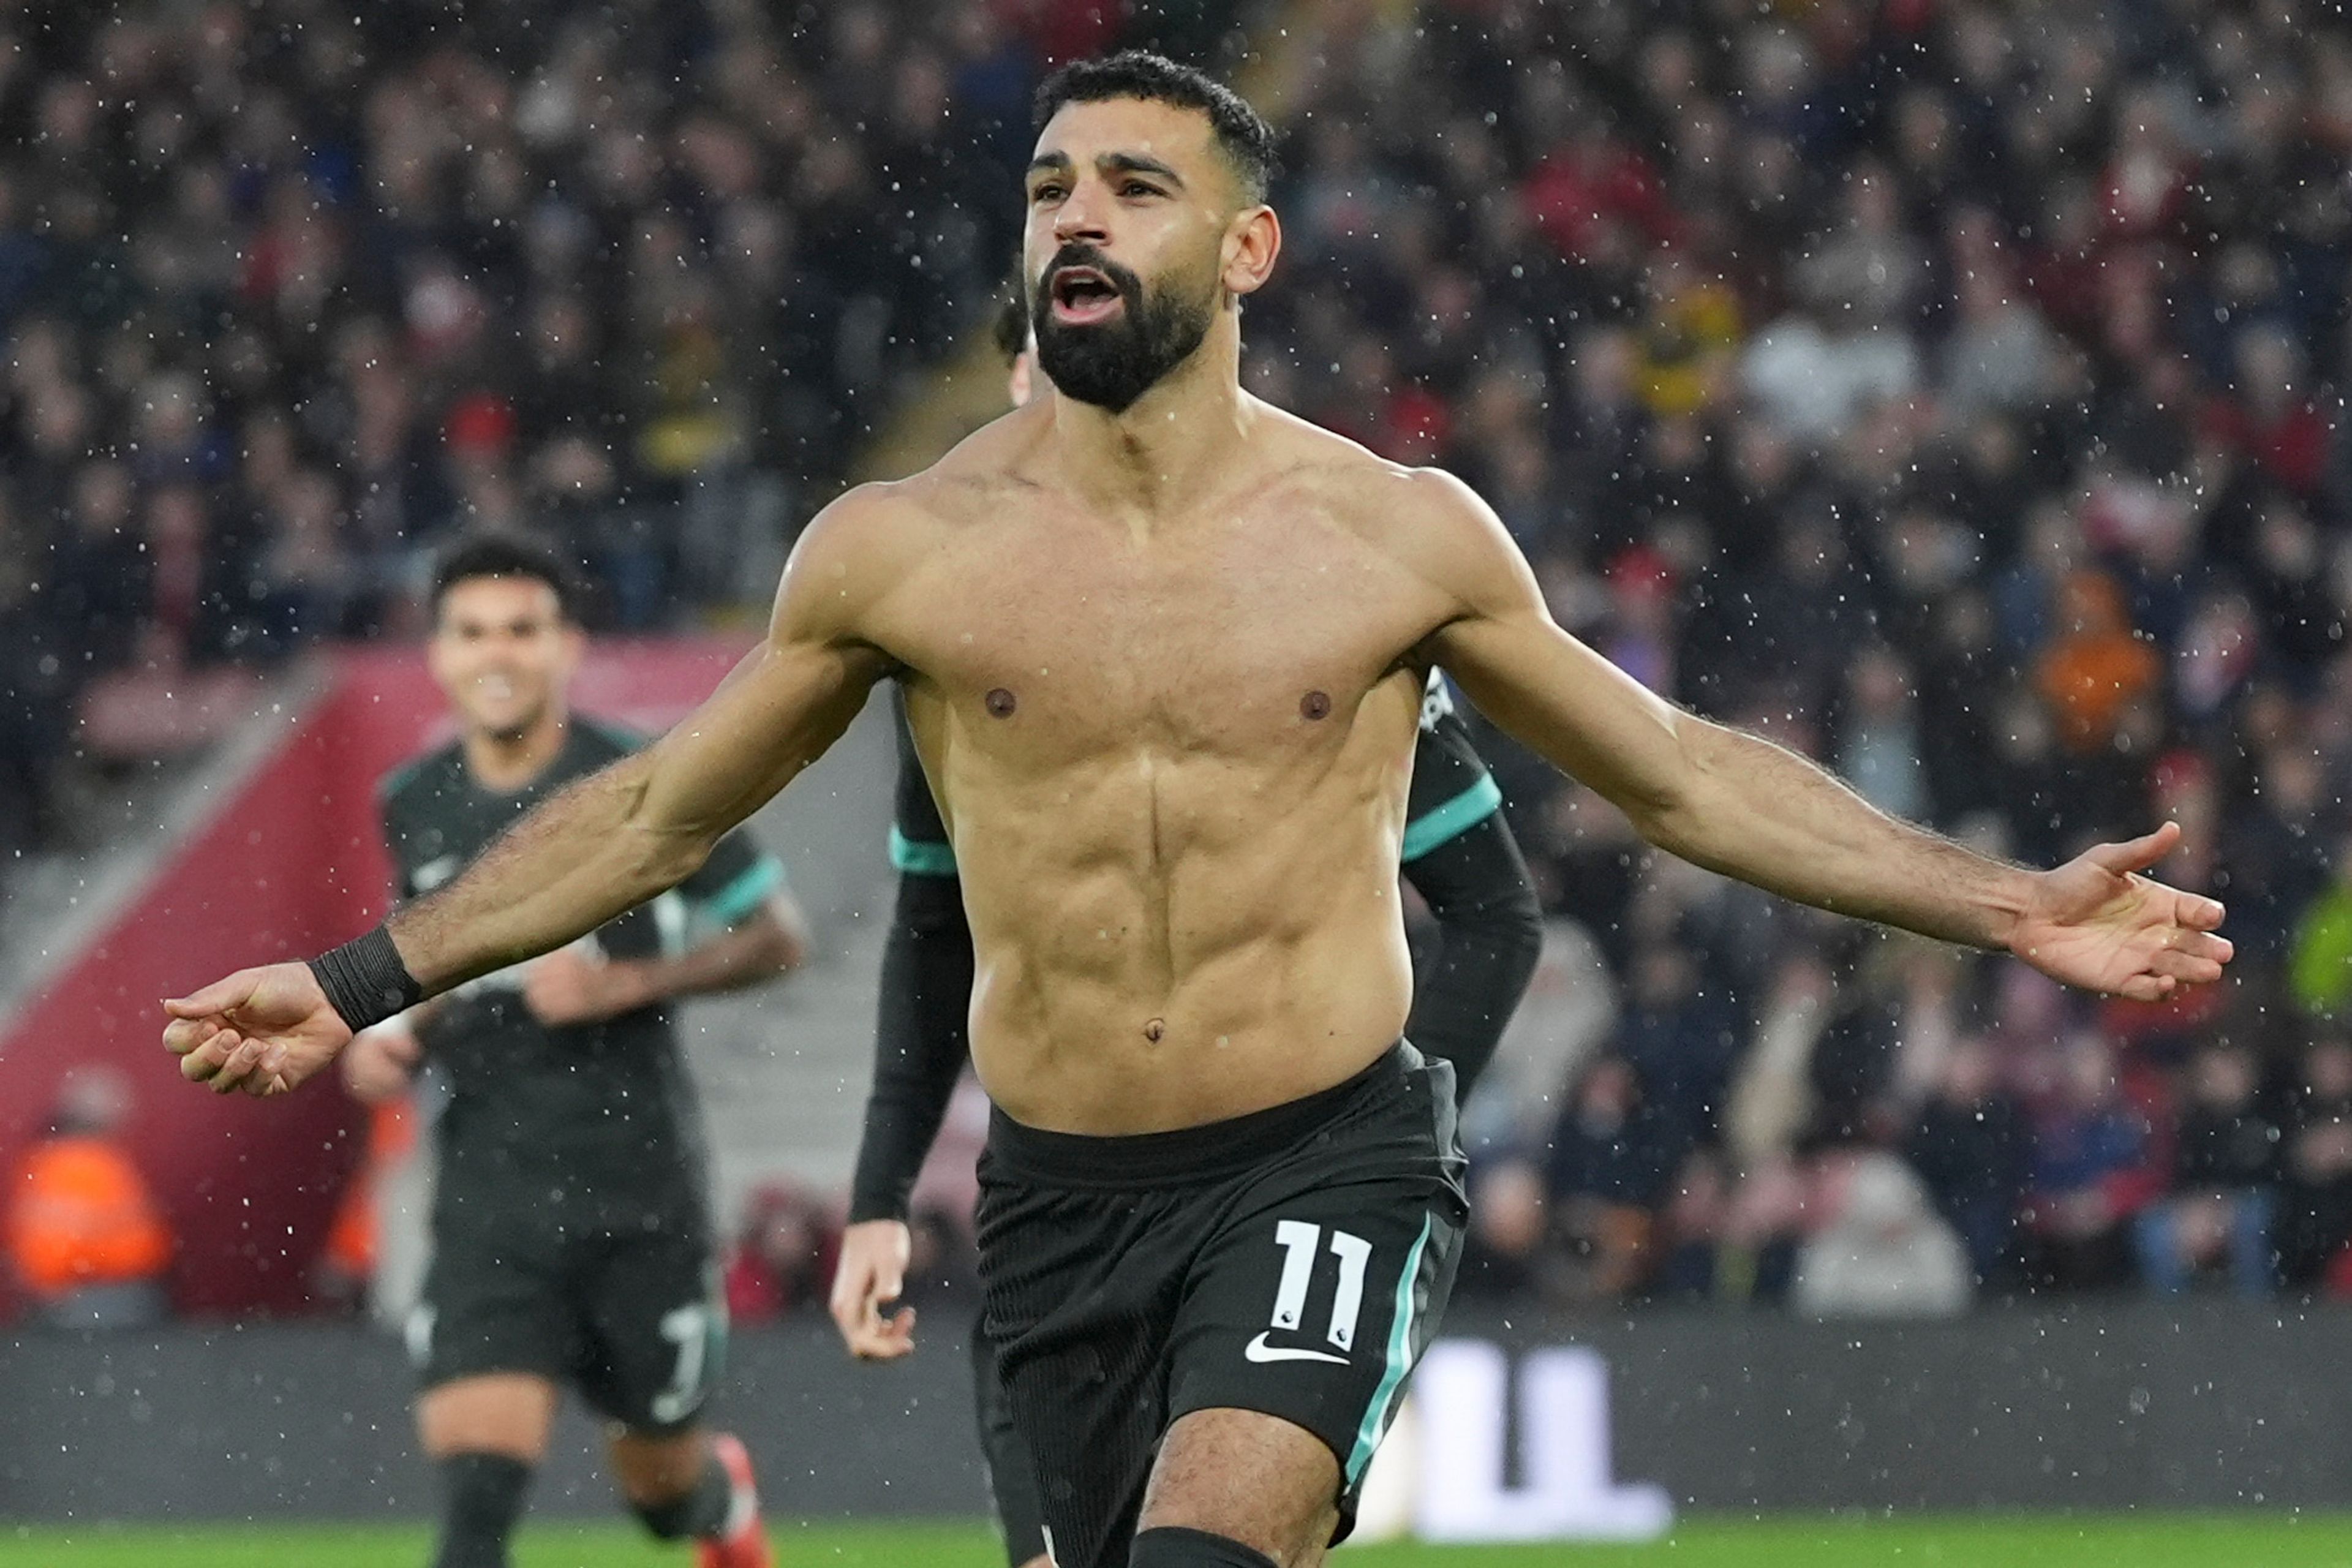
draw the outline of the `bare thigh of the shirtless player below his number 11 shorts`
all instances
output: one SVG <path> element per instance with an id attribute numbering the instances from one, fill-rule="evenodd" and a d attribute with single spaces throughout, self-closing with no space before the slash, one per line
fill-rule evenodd
<path id="1" fill-rule="evenodd" d="M 1338 1526 L 1338 1460 L 1305 1427 L 1258 1410 L 1192 1410 L 1169 1427 L 1136 1530 L 1237 1540 L 1279 1568 L 1315 1568 Z"/>

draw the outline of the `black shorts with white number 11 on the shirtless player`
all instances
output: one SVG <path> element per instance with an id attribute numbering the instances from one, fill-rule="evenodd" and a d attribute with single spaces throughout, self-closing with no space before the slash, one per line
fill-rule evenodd
<path id="1" fill-rule="evenodd" d="M 1454 1070 L 1402 1041 L 1305 1100 L 1174 1133 L 997 1114 L 983 1331 L 1058 1568 L 1124 1566 L 1160 1436 L 1207 1408 L 1319 1436 L 1345 1537 L 1465 1218 Z"/>

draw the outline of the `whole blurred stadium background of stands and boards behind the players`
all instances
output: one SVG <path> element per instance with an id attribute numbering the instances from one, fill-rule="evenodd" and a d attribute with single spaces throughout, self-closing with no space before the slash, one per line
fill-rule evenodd
<path id="1" fill-rule="evenodd" d="M 1679 1512 L 1675 1561 L 1837 1561 L 1738 1516 L 2197 1507 L 2246 1516 L 1849 1547 L 2352 1556 L 2284 1523 L 2352 1507 L 2340 5 L 19 0 L 0 1161 L 94 1100 L 174 1251 L 167 1321 L 113 1333 L 45 1326 L 0 1269 L 0 1521 L 28 1530 L 0 1561 L 113 1561 L 101 1521 L 414 1559 L 332 1521 L 423 1509 L 372 1326 L 414 1288 L 416 1173 L 334 1091 L 188 1095 L 153 997 L 372 917 L 437 545 L 576 557 L 628 637 L 583 703 L 659 724 L 818 505 L 990 416 L 1025 94 L 1122 42 L 1284 132 L 1254 390 L 1461 473 L 1566 625 L 1889 811 L 2037 863 L 2178 820 L 2164 875 L 2239 950 L 2176 1006 L 2060 997 L 1663 863 L 1494 741 L 1552 924 L 1470 1107 L 1479 1234 L 1388 1521 Z M 981 1507 L 969 1117 L 924 1190 L 931 1354 L 851 1371 L 811 1312 L 887 912 L 870 719 L 762 818 L 816 971 L 694 1016 L 727 1410 L 821 1526 Z M 374 1239 L 336 1229 L 362 1171 Z M 557 1465 L 539 1512 L 609 1505 Z M 988 1561 L 976 1530 L 891 1540 L 844 1552 Z M 1395 1561 L 1470 1549 L 1432 1552 Z"/>

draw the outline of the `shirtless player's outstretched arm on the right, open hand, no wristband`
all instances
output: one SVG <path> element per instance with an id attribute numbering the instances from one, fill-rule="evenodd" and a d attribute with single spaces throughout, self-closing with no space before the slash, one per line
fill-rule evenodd
<path id="1" fill-rule="evenodd" d="M 1642 689 L 1552 623 L 1494 512 L 1461 482 L 1414 477 L 1418 571 L 1451 602 L 1428 654 L 1503 729 L 1599 790 L 1644 839 L 1839 914 L 1971 947 L 2138 999 L 2220 978 L 2220 905 L 2138 872 L 2178 827 L 2037 872 L 1896 820 L 1811 762 Z"/>

